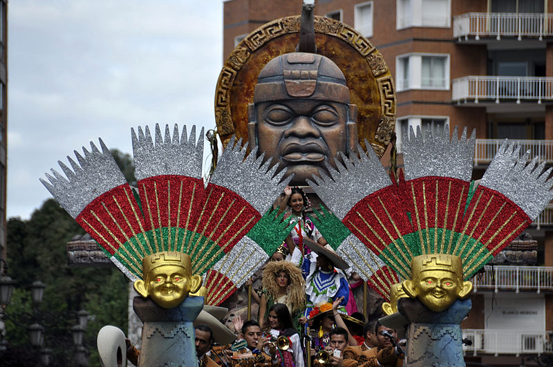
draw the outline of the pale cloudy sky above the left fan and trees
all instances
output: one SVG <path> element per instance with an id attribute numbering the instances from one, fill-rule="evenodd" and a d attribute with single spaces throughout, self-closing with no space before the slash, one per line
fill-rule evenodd
<path id="1" fill-rule="evenodd" d="M 10 1 L 8 218 L 91 140 L 132 154 L 131 127 L 213 128 L 222 38 L 221 0 Z"/>

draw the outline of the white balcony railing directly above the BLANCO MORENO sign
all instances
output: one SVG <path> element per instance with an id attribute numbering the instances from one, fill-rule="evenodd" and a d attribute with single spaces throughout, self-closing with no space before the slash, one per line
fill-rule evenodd
<path id="1" fill-rule="evenodd" d="M 486 265 L 483 274 L 477 274 L 471 279 L 475 292 L 478 290 L 493 290 L 494 292 L 520 290 L 553 291 L 553 267 L 545 266 L 508 266 Z"/>

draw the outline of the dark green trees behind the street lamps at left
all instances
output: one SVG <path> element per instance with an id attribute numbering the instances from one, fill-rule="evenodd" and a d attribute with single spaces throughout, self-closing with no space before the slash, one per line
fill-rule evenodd
<path id="1" fill-rule="evenodd" d="M 126 155 L 128 156 L 128 155 Z M 123 157 L 125 157 L 123 155 Z M 127 162 L 128 163 L 128 162 Z M 10 350 L 27 348 L 25 327 L 39 317 L 46 329 L 44 346 L 53 349 L 56 365 L 72 364 L 71 327 L 80 309 L 91 314 L 84 346 L 91 351 L 91 366 L 97 359 L 96 335 L 106 324 L 126 330 L 127 283 L 115 267 L 72 267 L 67 263 L 66 243 L 83 229 L 53 199 L 46 200 L 30 220 L 8 220 L 8 272 L 17 289 L 6 314 L 13 321 L 6 325 Z M 46 284 L 44 301 L 35 314 L 28 289 L 39 279 Z M 0 359 L 10 356 L 0 355 Z"/>

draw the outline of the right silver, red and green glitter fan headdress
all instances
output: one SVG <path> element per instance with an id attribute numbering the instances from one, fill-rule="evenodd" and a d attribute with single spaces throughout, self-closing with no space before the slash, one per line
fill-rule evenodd
<path id="1" fill-rule="evenodd" d="M 420 129 L 405 137 L 405 174 L 399 182 L 391 181 L 372 150 L 359 158 L 341 156 L 344 164 L 328 167 L 330 176 L 321 173 L 309 182 L 355 235 L 337 242 L 338 252 L 364 279 L 371 275 L 384 282 L 373 270 L 388 272 L 388 267 L 409 279 L 411 259 L 433 253 L 460 256 L 469 279 L 553 198 L 551 169 L 543 172 L 537 158 L 527 163 L 529 153 L 519 159 L 514 144 L 501 145 L 475 188 L 470 182 L 474 132 L 467 139 L 465 129 L 458 140 L 454 129 L 450 140 L 447 127 L 435 137 L 430 131 L 424 139 Z M 366 259 L 374 263 L 369 266 Z"/>

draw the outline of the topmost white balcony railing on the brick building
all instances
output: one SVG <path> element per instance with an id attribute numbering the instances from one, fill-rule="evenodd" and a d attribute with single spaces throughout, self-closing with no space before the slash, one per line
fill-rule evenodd
<path id="1" fill-rule="evenodd" d="M 453 17 L 453 37 L 550 37 L 553 15 L 533 13 L 469 12 Z"/>

